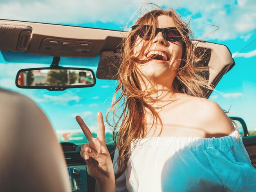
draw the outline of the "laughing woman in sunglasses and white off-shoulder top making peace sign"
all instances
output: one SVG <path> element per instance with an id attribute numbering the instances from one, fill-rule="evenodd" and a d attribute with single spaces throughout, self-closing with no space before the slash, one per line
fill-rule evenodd
<path id="1" fill-rule="evenodd" d="M 102 114 L 97 138 L 76 117 L 89 141 L 81 156 L 100 192 L 256 190 L 256 170 L 238 130 L 217 103 L 203 98 L 213 89 L 203 75 L 209 69 L 196 66 L 200 57 L 189 35 L 172 9 L 145 13 L 128 32 L 115 92 L 121 96 L 107 113 L 112 109 L 114 118 L 124 101 L 114 125 L 114 167 Z"/>

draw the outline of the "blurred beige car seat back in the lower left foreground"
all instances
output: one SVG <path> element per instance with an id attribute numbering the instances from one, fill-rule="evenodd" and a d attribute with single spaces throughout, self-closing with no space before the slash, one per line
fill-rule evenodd
<path id="1" fill-rule="evenodd" d="M 44 112 L 0 89 L 0 190 L 71 192 L 64 154 Z"/>

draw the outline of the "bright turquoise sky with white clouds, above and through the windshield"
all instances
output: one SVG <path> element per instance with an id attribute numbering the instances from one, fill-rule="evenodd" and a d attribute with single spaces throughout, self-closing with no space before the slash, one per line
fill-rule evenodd
<path id="1" fill-rule="evenodd" d="M 129 30 L 139 16 L 140 2 L 120 0 L 1 0 L 0 18 L 56 23 L 114 30 Z M 254 0 L 155 0 L 148 1 L 163 8 L 173 7 L 180 13 L 196 38 L 226 45 L 235 57 L 236 65 L 224 75 L 210 99 L 223 109 L 244 118 L 249 129 L 256 129 L 254 100 L 256 94 L 255 60 L 256 1 Z M 147 9 L 152 9 L 146 6 Z M 145 10 L 145 7 L 142 11 Z M 219 27 L 218 31 L 214 31 Z M 247 47 L 246 47 L 247 46 Z M 243 49 L 245 47 L 245 49 Z M 242 50 L 243 49 L 243 50 Z M 241 53 L 238 54 L 238 52 Z M 97 62 L 98 58 L 95 58 Z M 38 64 L 38 67 L 45 67 Z M 67 89 L 63 92 L 18 89 L 14 79 L 21 68 L 36 67 L 4 62 L 0 55 L 0 86 L 21 92 L 38 103 L 49 117 L 54 129 L 79 129 L 74 117 L 81 115 L 89 128 L 97 132 L 96 113 L 103 116 L 111 103 L 115 81 L 98 80 L 94 87 Z M 12 70 L 10 70 L 12 69 Z M 96 68 L 94 68 L 96 70 Z M 95 71 L 96 73 L 96 71 Z M 109 89 L 113 87 L 113 89 Z M 99 91 L 100 90 L 100 91 Z M 102 93 L 99 96 L 99 92 Z M 111 131 L 106 127 L 106 131 Z"/>

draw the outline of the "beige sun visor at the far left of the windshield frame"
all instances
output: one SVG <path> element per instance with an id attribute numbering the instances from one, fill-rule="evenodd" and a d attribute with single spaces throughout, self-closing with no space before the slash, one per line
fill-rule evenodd
<path id="1" fill-rule="evenodd" d="M 0 22 L 0 49 L 13 52 L 26 51 L 31 33 L 30 25 L 18 22 Z"/>

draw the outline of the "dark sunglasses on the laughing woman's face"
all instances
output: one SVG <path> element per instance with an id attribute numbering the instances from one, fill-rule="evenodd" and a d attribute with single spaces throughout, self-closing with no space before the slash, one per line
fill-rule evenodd
<path id="1" fill-rule="evenodd" d="M 153 27 L 150 25 L 133 25 L 132 30 L 137 29 L 137 27 L 140 27 L 135 33 L 140 37 L 145 40 L 149 40 L 150 36 L 153 31 Z M 159 32 L 162 32 L 165 40 L 168 41 L 178 41 L 182 38 L 180 35 L 180 32 L 177 30 L 176 27 L 168 27 L 168 28 L 156 28 L 155 34 L 153 34 L 153 38 L 157 36 Z"/>

